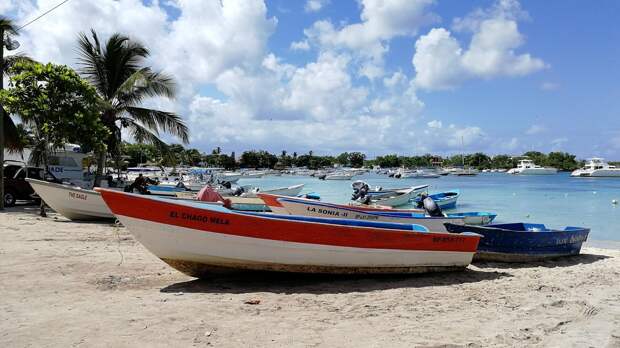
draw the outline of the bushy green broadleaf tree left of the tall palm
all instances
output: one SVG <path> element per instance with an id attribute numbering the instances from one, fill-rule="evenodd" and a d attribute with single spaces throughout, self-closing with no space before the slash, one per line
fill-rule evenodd
<path id="1" fill-rule="evenodd" d="M 47 165 L 50 151 L 67 142 L 105 151 L 110 133 L 98 117 L 101 101 L 75 71 L 64 65 L 18 62 L 10 76 L 10 88 L 0 93 L 0 101 L 32 131 L 31 160 L 37 165 Z"/>

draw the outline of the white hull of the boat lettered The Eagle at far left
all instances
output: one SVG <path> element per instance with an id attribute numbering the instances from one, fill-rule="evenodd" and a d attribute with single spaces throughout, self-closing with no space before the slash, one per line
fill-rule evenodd
<path id="1" fill-rule="evenodd" d="M 101 220 L 114 218 L 98 192 L 39 180 L 28 179 L 28 181 L 47 205 L 67 219 Z"/>

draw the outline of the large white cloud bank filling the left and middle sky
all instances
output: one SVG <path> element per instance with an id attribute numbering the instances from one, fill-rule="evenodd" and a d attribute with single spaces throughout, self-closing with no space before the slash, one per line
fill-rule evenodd
<path id="1" fill-rule="evenodd" d="M 175 76 L 182 92 L 176 101 L 147 105 L 183 115 L 191 146 L 203 150 L 411 153 L 460 150 L 461 137 L 466 146 L 484 144 L 476 126 L 446 127 L 437 119 L 425 127 L 424 103 L 410 77 L 402 71 L 384 76 L 388 41 L 415 35 L 432 21 L 431 3 L 366 0 L 361 23 L 335 28 L 318 21 L 306 33 L 308 48 L 320 46 L 317 58 L 296 65 L 267 51 L 277 20 L 258 0 L 178 0 L 167 3 L 176 7 L 174 17 L 158 1 L 71 1 L 28 27 L 20 40 L 34 58 L 74 67 L 76 34 L 91 26 L 103 40 L 117 31 L 141 40 L 152 51 L 149 64 Z M 56 3 L 12 4 L 32 18 Z M 305 49 L 303 42 L 291 48 Z M 384 78 L 360 84 L 355 72 Z"/>

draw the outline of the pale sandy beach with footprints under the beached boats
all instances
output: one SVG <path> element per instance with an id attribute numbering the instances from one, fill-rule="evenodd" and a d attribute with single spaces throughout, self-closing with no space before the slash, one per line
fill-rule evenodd
<path id="1" fill-rule="evenodd" d="M 0 213 L 0 346 L 620 347 L 620 251 L 381 277 L 196 280 L 122 226 Z"/>

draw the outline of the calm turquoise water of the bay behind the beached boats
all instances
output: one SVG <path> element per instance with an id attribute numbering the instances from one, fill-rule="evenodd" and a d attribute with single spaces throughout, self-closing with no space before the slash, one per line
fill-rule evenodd
<path id="1" fill-rule="evenodd" d="M 620 241 L 620 178 L 571 178 L 568 173 L 517 176 L 481 173 L 474 177 L 445 176 L 439 179 L 393 179 L 365 174 L 371 187 L 405 187 L 430 184 L 430 191 L 460 189 L 457 211 L 490 211 L 497 222 L 540 222 L 548 227 L 590 227 L 591 240 Z M 261 189 L 305 184 L 304 193 L 317 192 L 326 202 L 347 203 L 352 181 L 323 181 L 306 176 L 267 176 L 242 179 L 242 185 Z"/>

